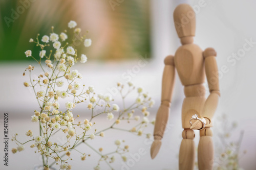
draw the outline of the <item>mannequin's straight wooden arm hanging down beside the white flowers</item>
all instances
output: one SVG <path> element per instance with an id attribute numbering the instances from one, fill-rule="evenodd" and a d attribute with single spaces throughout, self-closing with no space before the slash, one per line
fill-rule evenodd
<path id="1" fill-rule="evenodd" d="M 155 158 L 160 147 L 161 139 L 165 131 L 165 127 L 169 116 L 169 107 L 173 94 L 174 80 L 175 80 L 175 66 L 174 57 L 167 56 L 164 59 L 164 71 L 162 78 L 162 96 L 161 96 L 161 106 L 158 109 L 156 116 L 156 123 L 154 129 L 154 142 L 151 147 L 151 157 Z"/>

